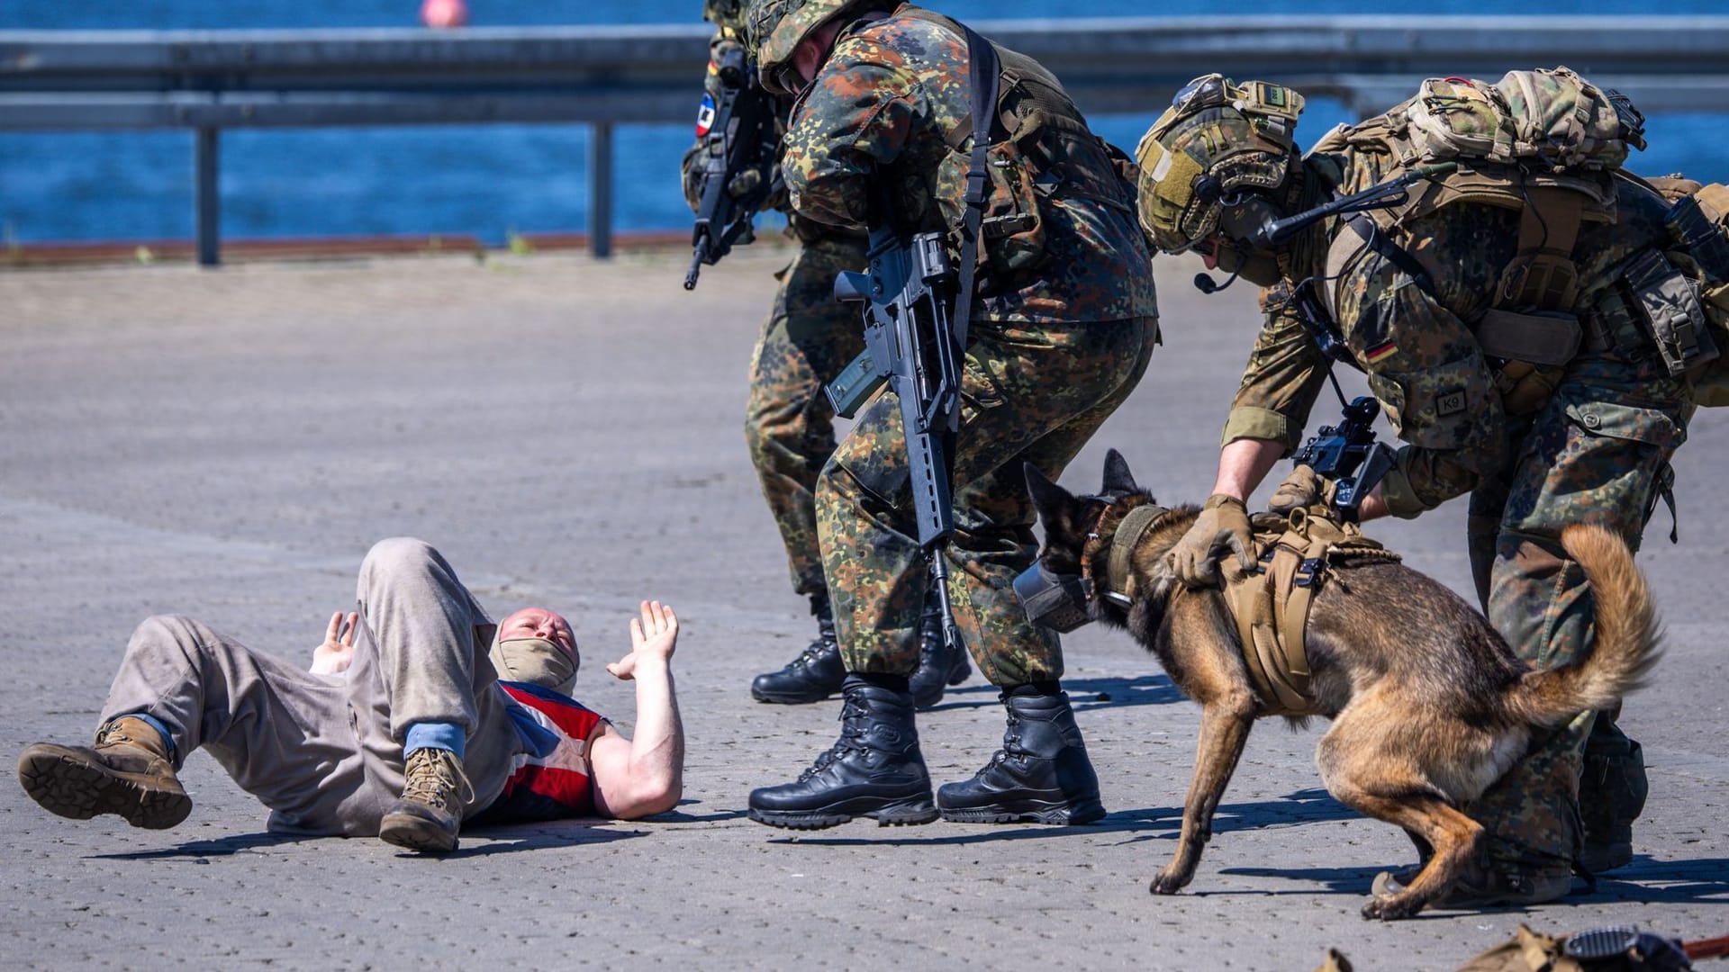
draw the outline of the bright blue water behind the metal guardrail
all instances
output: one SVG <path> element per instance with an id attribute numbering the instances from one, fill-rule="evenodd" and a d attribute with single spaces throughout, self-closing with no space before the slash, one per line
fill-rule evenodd
<path id="1" fill-rule="evenodd" d="M 932 0 L 960 17 L 1196 16 L 1215 0 Z M 1516 3 L 1423 0 L 1402 12 L 1637 14 L 1646 0 Z M 418 0 L 0 0 L 0 29 L 230 29 L 417 26 Z M 1380 14 L 1385 0 L 1321 0 L 1309 14 Z M 1233 14 L 1292 12 L 1241 0 Z M 474 26 L 695 21 L 699 0 L 469 0 Z M 1722 0 L 1670 0 L 1665 14 L 1717 14 Z M 695 90 L 700 66 L 692 69 Z M 693 99 L 695 109 L 695 99 Z M 1157 116 L 1094 118 L 1119 145 L 1134 145 Z M 1347 121 L 1316 100 L 1302 130 L 1317 138 Z M 1729 182 L 1729 116 L 1660 114 L 1641 173 L 1686 171 Z M 690 225 L 678 194 L 690 128 L 628 125 L 614 137 L 621 230 Z M 221 232 L 226 239 L 375 233 L 510 233 L 588 227 L 588 133 L 581 126 L 488 125 L 341 130 L 226 130 L 221 137 Z M 192 225 L 192 135 L 185 131 L 0 131 L 0 239 L 187 239 Z"/>

